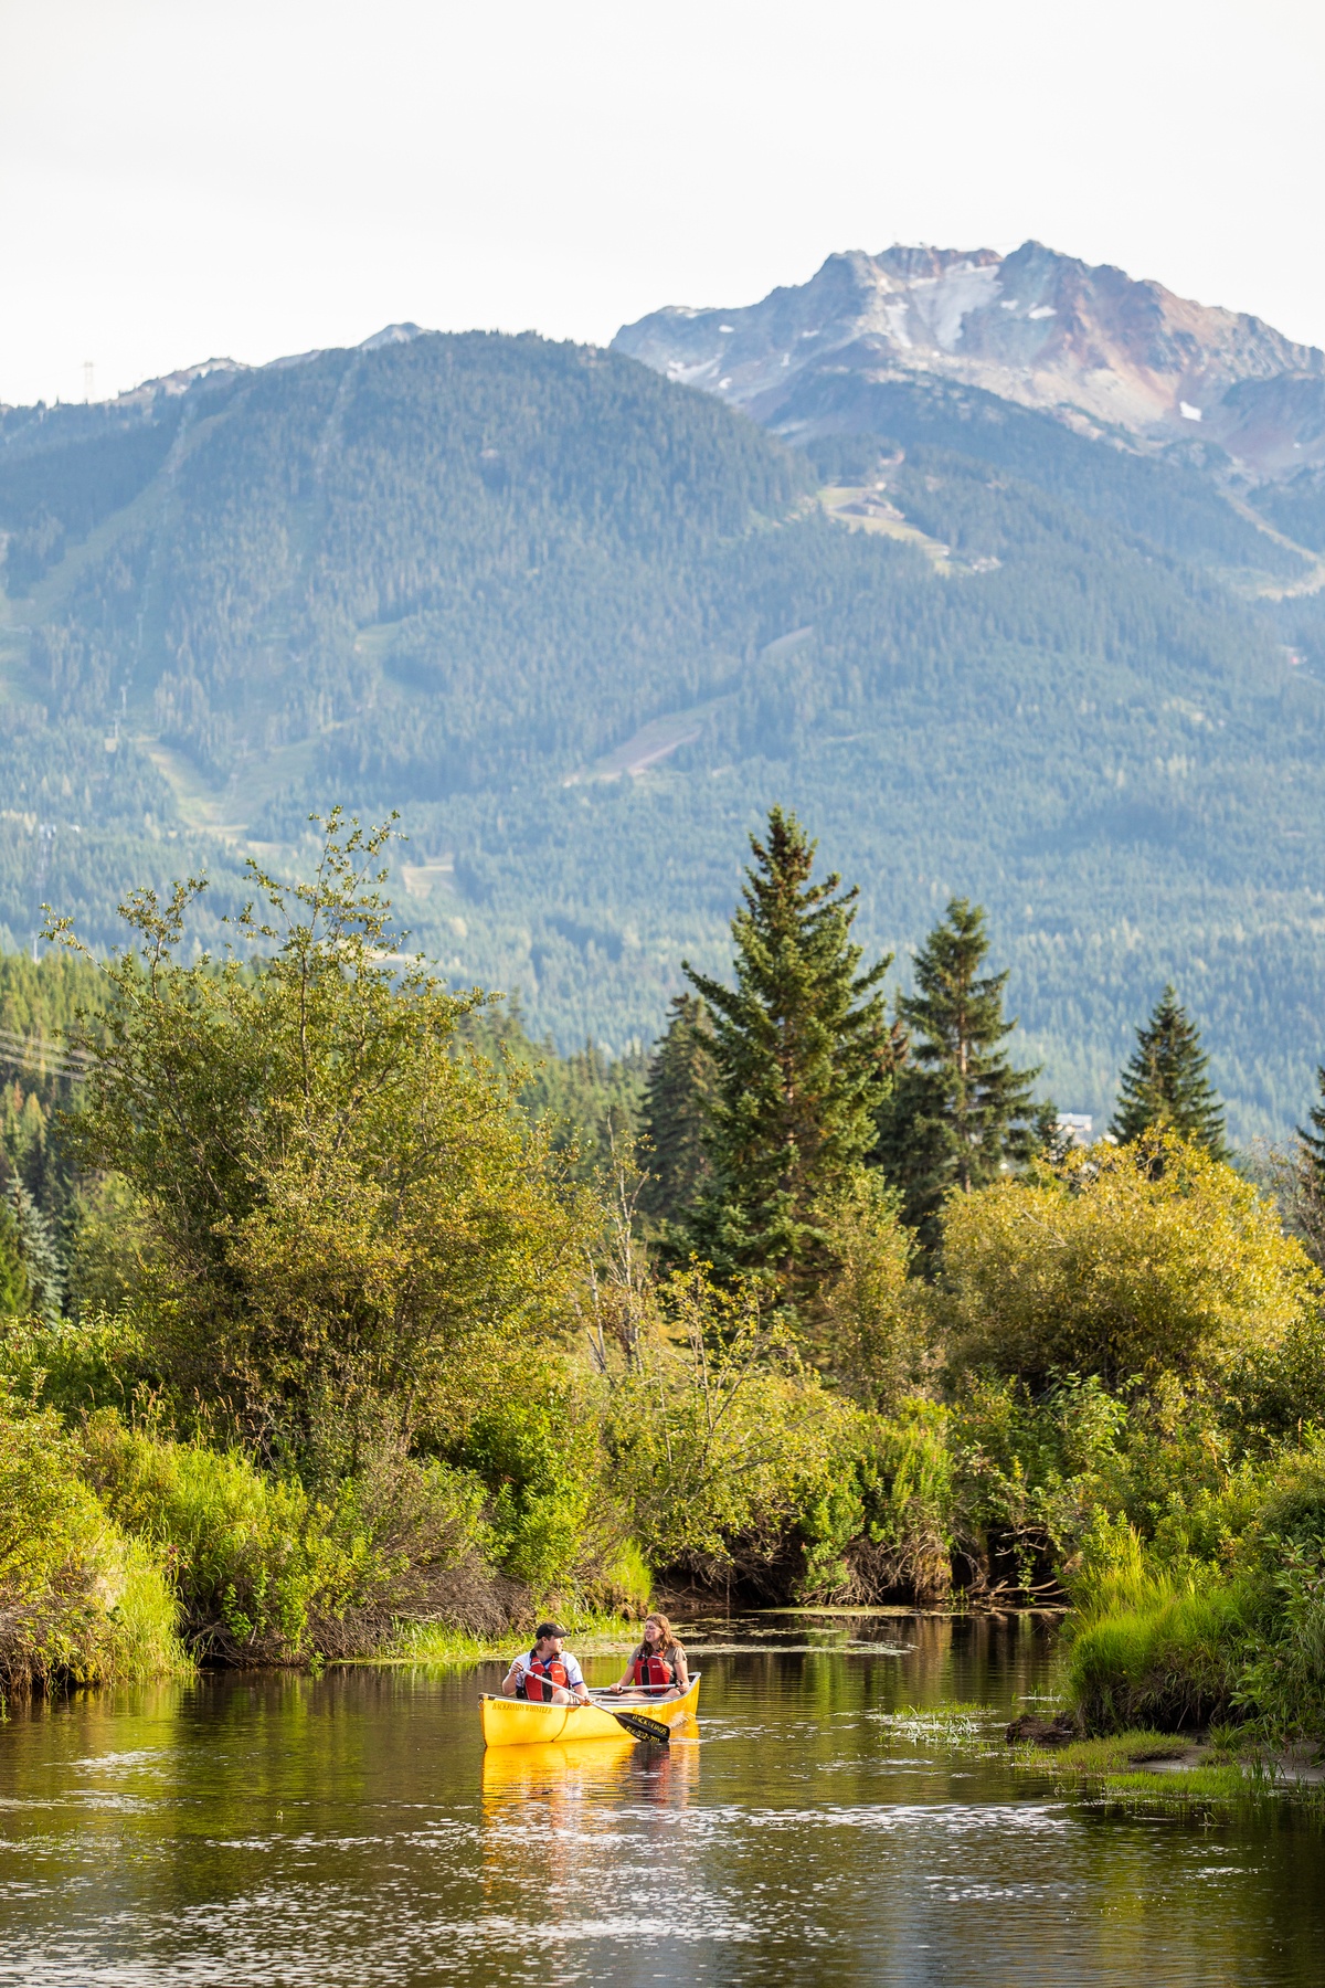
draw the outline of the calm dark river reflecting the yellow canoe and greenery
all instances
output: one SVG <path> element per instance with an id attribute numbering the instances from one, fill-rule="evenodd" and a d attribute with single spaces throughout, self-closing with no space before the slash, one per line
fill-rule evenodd
<path id="1" fill-rule="evenodd" d="M 1122 1815 L 971 1743 L 1051 1688 L 1035 1624 L 761 1616 L 687 1646 L 701 1722 L 665 1753 L 485 1755 L 497 1664 L 18 1710 L 0 1982 L 1325 1982 L 1309 1821 Z M 908 1712 L 956 1706 L 983 1708 L 956 1740 Z"/>

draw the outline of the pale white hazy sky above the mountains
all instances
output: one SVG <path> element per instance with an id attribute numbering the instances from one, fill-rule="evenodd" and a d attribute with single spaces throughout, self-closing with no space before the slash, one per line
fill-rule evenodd
<path id="1" fill-rule="evenodd" d="M 1323 0 L 0 0 L 0 400 L 1033 235 L 1325 346 Z"/>

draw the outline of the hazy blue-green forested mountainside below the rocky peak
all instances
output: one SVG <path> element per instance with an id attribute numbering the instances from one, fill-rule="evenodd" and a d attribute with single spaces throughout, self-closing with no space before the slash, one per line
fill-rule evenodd
<path id="1" fill-rule="evenodd" d="M 219 914 L 310 809 L 399 807 L 411 942 L 622 1050 L 683 956 L 721 968 L 777 799 L 868 944 L 989 907 L 1065 1109 L 1108 1107 L 1172 978 L 1232 1131 L 1301 1117 L 1325 614 L 1293 483 L 952 380 L 803 386 L 852 414 L 789 447 L 620 354 L 401 332 L 6 410 L 8 942 L 44 901 L 109 942 L 131 885 L 201 867 Z"/>

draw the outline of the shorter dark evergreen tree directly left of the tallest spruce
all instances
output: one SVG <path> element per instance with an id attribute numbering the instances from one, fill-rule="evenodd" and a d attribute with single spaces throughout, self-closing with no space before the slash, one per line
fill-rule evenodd
<path id="1" fill-rule="evenodd" d="M 644 1087 L 648 1181 L 640 1207 L 683 1229 L 713 1187 L 705 1133 L 717 1089 L 713 1016 L 697 994 L 677 994 Z"/>

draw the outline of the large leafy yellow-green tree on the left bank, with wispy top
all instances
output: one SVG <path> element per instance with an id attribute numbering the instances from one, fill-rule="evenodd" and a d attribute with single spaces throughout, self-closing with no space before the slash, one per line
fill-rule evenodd
<path id="1" fill-rule="evenodd" d="M 183 964 L 201 885 L 131 899 L 103 974 L 81 1163 L 141 1209 L 131 1296 L 179 1404 L 298 1445 L 308 1402 L 409 1404 L 425 1441 L 483 1348 L 570 1318 L 580 1191 L 516 1109 L 522 1072 L 467 1048 L 455 996 L 377 895 L 387 831 L 326 829 L 308 885 L 252 871 L 260 966 Z"/>

